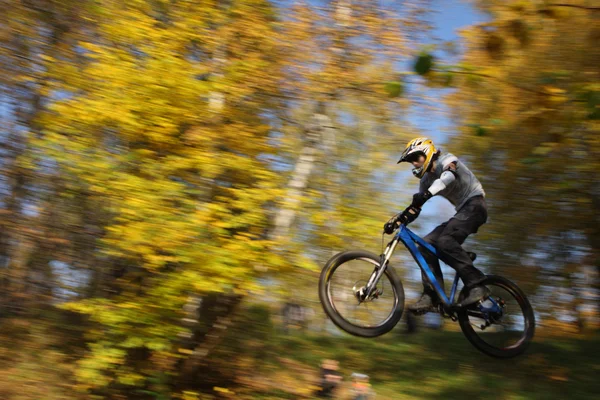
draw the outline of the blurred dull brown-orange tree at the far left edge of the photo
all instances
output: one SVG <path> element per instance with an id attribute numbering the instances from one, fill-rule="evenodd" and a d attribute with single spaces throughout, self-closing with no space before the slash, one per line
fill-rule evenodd
<path id="1" fill-rule="evenodd" d="M 68 207 L 49 207 L 61 183 L 48 179 L 48 165 L 35 174 L 28 166 L 32 140 L 43 131 L 39 117 L 54 97 L 49 66 L 56 60 L 81 65 L 76 52 L 84 31 L 91 29 L 92 3 L 69 1 L 2 1 L 0 16 L 0 107 L 5 122 L 1 163 L 2 229 L 0 253 L 2 312 L 21 312 L 46 303 L 60 287 L 49 261 L 66 256 L 57 251 L 68 240 L 89 243 L 87 232 L 69 221 Z M 81 207 L 77 207 L 80 209 Z M 64 235 L 54 227 L 60 225 Z M 85 257 L 84 247 L 77 260 Z M 73 257 L 73 254 L 71 254 Z M 75 258 L 72 261 L 76 262 Z"/>

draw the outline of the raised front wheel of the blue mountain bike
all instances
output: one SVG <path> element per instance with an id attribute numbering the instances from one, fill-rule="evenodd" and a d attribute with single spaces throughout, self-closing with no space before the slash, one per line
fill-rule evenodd
<path id="1" fill-rule="evenodd" d="M 404 289 L 392 268 L 386 268 L 368 299 L 363 288 L 379 257 L 366 251 L 346 251 L 333 256 L 319 279 L 319 298 L 325 313 L 340 329 L 355 336 L 376 337 L 396 326 L 404 311 Z"/>

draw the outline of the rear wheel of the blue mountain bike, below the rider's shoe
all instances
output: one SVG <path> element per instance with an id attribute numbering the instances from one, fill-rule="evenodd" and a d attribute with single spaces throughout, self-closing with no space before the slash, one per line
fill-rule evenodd
<path id="1" fill-rule="evenodd" d="M 492 357 L 523 353 L 535 331 L 529 300 L 516 284 L 501 276 L 488 275 L 483 284 L 492 291 L 490 297 L 457 313 L 463 333 L 478 350 Z M 463 289 L 459 298 L 465 295 Z"/>

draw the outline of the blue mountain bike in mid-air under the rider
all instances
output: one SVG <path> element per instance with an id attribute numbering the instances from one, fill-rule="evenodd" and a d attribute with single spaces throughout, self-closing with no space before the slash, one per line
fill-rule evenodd
<path id="1" fill-rule="evenodd" d="M 457 293 L 460 277 L 455 275 L 448 297 L 420 251 L 424 249 L 439 258 L 436 248 L 405 224 L 396 230 L 380 256 L 350 250 L 327 261 L 319 278 L 319 298 L 336 326 L 352 335 L 372 338 L 389 332 L 400 321 L 404 288 L 389 265 L 400 242 L 437 292 L 439 302 L 435 311 L 458 321 L 464 335 L 478 350 L 498 358 L 515 357 L 525 351 L 535 331 L 533 309 L 525 293 L 506 278 L 486 275 L 483 284 L 491 290 L 491 295 L 459 307 L 457 304 L 467 295 L 464 287 Z M 468 254 L 475 260 L 475 253 Z"/>

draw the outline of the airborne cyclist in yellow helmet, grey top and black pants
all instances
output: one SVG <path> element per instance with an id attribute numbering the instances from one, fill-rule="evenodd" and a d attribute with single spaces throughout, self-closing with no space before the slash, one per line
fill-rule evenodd
<path id="1" fill-rule="evenodd" d="M 442 154 L 427 138 L 416 138 L 408 142 L 401 162 L 414 166 L 413 175 L 420 179 L 419 192 L 403 212 L 393 216 L 385 225 L 384 231 L 393 233 L 399 223 L 413 222 L 421 212 L 421 207 L 435 195 L 446 198 L 456 209 L 456 214 L 431 231 L 424 240 L 433 245 L 440 259 L 456 270 L 468 290 L 467 297 L 459 306 L 467 306 L 485 299 L 490 290 L 482 285 L 485 275 L 473 266 L 473 261 L 461 247 L 467 236 L 476 233 L 487 221 L 485 192 L 475 175 L 453 154 Z M 431 267 L 438 283 L 444 288 L 444 277 L 438 258 L 419 246 L 419 250 Z M 423 294 L 420 299 L 408 306 L 414 313 L 426 313 L 435 309 L 439 302 L 436 291 L 422 273 Z"/>

